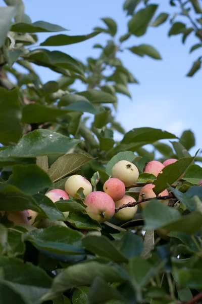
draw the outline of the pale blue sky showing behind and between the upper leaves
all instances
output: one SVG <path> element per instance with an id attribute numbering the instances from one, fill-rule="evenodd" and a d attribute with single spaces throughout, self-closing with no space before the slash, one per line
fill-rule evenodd
<path id="1" fill-rule="evenodd" d="M 87 34 L 93 27 L 103 26 L 100 20 L 102 17 L 112 17 L 117 21 L 119 35 L 127 32 L 128 17 L 122 9 L 123 1 L 25 0 L 24 3 L 26 13 L 33 22 L 44 20 L 59 24 L 70 29 L 67 32 L 70 35 Z M 169 6 L 168 0 L 154 0 L 153 3 L 161 4 L 158 12 L 175 11 L 175 8 Z M 0 5 L 4 5 L 3 0 L 0 0 Z M 186 44 L 182 45 L 180 35 L 168 37 L 169 26 L 167 21 L 158 28 L 150 27 L 144 36 L 132 36 L 124 44 L 126 47 L 142 43 L 153 45 L 159 50 L 163 60 L 141 58 L 127 50 L 121 54 L 124 65 L 140 81 L 140 85 L 129 86 L 132 101 L 119 94 L 117 120 L 127 131 L 148 126 L 161 128 L 179 136 L 184 129 L 191 129 L 196 136 L 194 153 L 196 148 L 202 148 L 200 131 L 202 70 L 192 78 L 185 77 L 185 74 L 192 62 L 201 54 L 200 49 L 189 54 L 190 47 L 197 43 L 194 35 L 191 34 Z M 45 40 L 48 35 L 40 34 L 40 41 Z M 60 49 L 74 58 L 85 60 L 89 55 L 93 57 L 98 54 L 97 49 L 92 49 L 93 44 L 102 44 L 107 39 L 110 39 L 109 35 L 99 34 L 79 44 L 49 49 Z M 58 78 L 58 74 L 49 69 L 37 66 L 36 70 L 40 72 L 44 82 Z"/>

